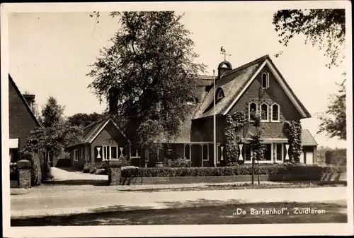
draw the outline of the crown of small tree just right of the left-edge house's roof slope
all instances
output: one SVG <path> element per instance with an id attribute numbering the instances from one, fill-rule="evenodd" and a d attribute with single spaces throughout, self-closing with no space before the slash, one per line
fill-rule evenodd
<path id="1" fill-rule="evenodd" d="M 49 97 L 42 109 L 42 126 L 51 127 L 63 119 L 64 107 L 59 105 L 55 97 Z"/>

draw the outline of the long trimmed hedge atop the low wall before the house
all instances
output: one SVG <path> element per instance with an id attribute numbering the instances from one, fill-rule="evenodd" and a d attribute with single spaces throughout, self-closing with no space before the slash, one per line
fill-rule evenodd
<path id="1" fill-rule="evenodd" d="M 255 174 L 316 174 L 346 172 L 344 166 L 334 165 L 261 165 Z M 235 167 L 154 167 L 154 168 L 126 168 L 122 169 L 122 177 L 201 177 L 201 176 L 229 176 L 251 175 L 251 165 Z"/>

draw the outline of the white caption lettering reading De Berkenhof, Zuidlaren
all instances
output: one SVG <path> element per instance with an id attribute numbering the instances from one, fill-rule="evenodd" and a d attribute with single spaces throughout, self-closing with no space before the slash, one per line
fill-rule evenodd
<path id="1" fill-rule="evenodd" d="M 324 214 L 326 210 L 316 208 L 293 208 L 288 211 L 287 208 L 249 208 L 249 211 L 242 208 L 236 208 L 236 212 L 232 215 L 289 215 L 292 214 Z"/>

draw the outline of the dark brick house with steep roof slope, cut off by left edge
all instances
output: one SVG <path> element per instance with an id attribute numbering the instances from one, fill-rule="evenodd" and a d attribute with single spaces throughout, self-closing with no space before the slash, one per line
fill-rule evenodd
<path id="1" fill-rule="evenodd" d="M 35 95 L 30 95 L 34 100 Z M 30 131 L 40 126 L 33 110 L 28 105 L 29 98 L 22 95 L 16 83 L 8 75 L 8 121 L 9 147 L 11 161 L 18 160 L 18 153 L 23 149 Z"/>

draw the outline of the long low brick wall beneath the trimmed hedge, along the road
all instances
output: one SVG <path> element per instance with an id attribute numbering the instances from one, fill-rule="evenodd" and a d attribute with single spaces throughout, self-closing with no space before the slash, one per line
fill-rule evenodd
<path id="1" fill-rule="evenodd" d="M 343 174 L 262 174 L 261 181 L 346 181 L 346 173 Z M 258 180 L 258 175 L 254 176 Z M 205 176 L 205 177 L 133 177 L 120 178 L 120 185 L 139 184 L 201 184 L 201 183 L 228 183 L 228 182 L 251 182 L 251 175 L 234 176 Z M 112 184 L 113 185 L 113 184 Z"/>

